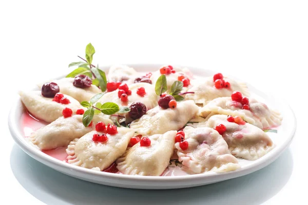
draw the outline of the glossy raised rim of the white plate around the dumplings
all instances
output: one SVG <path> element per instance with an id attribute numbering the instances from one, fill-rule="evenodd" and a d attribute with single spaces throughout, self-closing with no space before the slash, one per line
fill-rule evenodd
<path id="1" fill-rule="evenodd" d="M 133 68 L 140 68 L 140 67 L 156 67 L 159 68 L 164 64 L 125 64 L 129 67 L 133 67 Z M 197 67 L 191 67 L 191 66 L 179 66 L 182 68 L 188 68 L 189 70 L 203 70 L 204 72 L 210 72 L 213 73 L 215 72 L 214 70 L 209 70 L 209 69 L 204 69 L 204 68 L 197 68 Z M 109 65 L 107 66 L 100 66 L 100 68 L 102 68 L 103 70 L 106 70 L 108 68 L 110 68 Z M 139 69 L 137 69 L 139 70 Z M 195 72 L 192 72 L 195 74 Z M 232 75 L 228 75 L 228 76 L 232 76 Z M 59 76 L 58 78 L 64 77 Z M 233 76 L 232 76 L 233 77 Z M 236 77 L 233 77 L 235 79 L 238 79 Z M 260 91 L 258 88 L 250 85 L 249 83 L 246 83 L 248 88 L 254 88 L 254 90 L 257 90 L 258 93 L 262 93 L 263 95 L 268 96 L 268 93 L 266 92 L 262 92 Z M 34 89 L 31 89 L 34 90 Z M 67 175 L 70 176 L 75 176 L 78 175 L 82 178 L 82 176 L 85 177 L 84 180 L 91 180 L 91 177 L 102 177 L 102 179 L 104 178 L 108 178 L 109 180 L 127 180 L 127 181 L 135 181 L 135 182 L 153 182 L 155 181 L 156 183 L 170 183 L 170 182 L 187 182 L 189 181 L 191 184 L 191 182 L 199 182 L 200 185 L 202 185 L 202 182 L 204 184 L 205 180 L 208 181 L 221 181 L 221 180 L 226 180 L 226 179 L 231 179 L 231 178 L 236 178 L 236 177 L 240 177 L 249 173 L 253 173 L 257 170 L 260 170 L 264 167 L 266 167 L 267 165 L 269 165 L 270 163 L 272 163 L 273 161 L 275 161 L 280 154 L 291 144 L 295 132 L 296 132 L 296 128 L 297 128 L 297 121 L 296 121 L 296 117 L 294 114 L 294 111 L 292 110 L 292 108 L 290 107 L 290 105 L 288 105 L 287 103 L 285 103 L 285 100 L 282 100 L 280 97 L 274 95 L 274 99 L 279 99 L 279 101 L 282 101 L 283 104 L 289 109 L 289 111 L 292 113 L 292 121 L 293 121 L 293 125 L 292 125 L 292 130 L 290 129 L 290 133 L 288 133 L 288 138 L 283 141 L 282 145 L 280 145 L 277 149 L 272 150 L 274 152 L 269 152 L 266 155 L 262 156 L 261 158 L 258 159 L 258 161 L 255 161 L 255 163 L 253 163 L 252 165 L 248 165 L 247 167 L 245 167 L 245 169 L 238 169 L 232 172 L 225 172 L 225 173 L 201 173 L 201 174 L 194 174 L 194 175 L 184 175 L 184 176 L 136 176 L 136 175 L 125 175 L 125 174 L 114 174 L 114 173 L 107 173 L 107 172 L 98 172 L 95 170 L 90 170 L 90 169 L 86 169 L 86 168 L 82 168 L 82 167 L 78 167 L 78 166 L 74 166 L 74 165 L 70 165 L 69 163 L 66 163 L 64 161 L 61 161 L 59 159 L 55 159 L 43 152 L 41 152 L 40 150 L 36 149 L 34 146 L 30 145 L 29 141 L 27 141 L 27 139 L 23 136 L 22 132 L 21 132 L 21 128 L 18 128 L 18 121 L 16 121 L 16 115 L 18 114 L 18 109 L 22 108 L 22 103 L 20 100 L 20 96 L 17 96 L 17 98 L 14 100 L 14 103 L 12 105 L 12 108 L 10 110 L 9 116 L 8 116 L 8 126 L 9 126 L 9 130 L 11 133 L 11 136 L 13 137 L 14 141 L 16 142 L 16 144 L 22 148 L 22 150 L 24 152 L 26 152 L 28 155 L 30 155 L 32 158 L 34 158 L 35 160 L 40 161 L 41 163 L 44 163 L 46 166 L 52 168 L 52 169 L 56 169 L 57 171 L 60 171 L 60 169 L 62 171 L 62 173 L 65 173 Z M 71 173 L 67 173 L 67 172 L 71 172 Z M 88 176 L 88 177 L 87 177 Z M 79 178 L 79 177 L 78 177 Z M 93 181 L 92 181 L 93 182 Z M 102 180 L 100 181 L 95 181 L 96 183 L 102 183 L 104 184 Z M 108 181 L 105 181 L 106 183 Z M 213 182 L 211 182 L 213 183 Z M 199 185 L 199 186 L 200 186 Z M 114 186 L 117 187 L 129 187 L 126 186 L 125 184 L 114 184 Z M 155 187 L 155 185 L 140 185 L 139 187 Z M 177 188 L 176 185 L 170 185 L 171 187 L 173 186 L 174 188 Z M 198 186 L 198 185 L 194 185 L 194 186 Z M 138 187 L 138 186 L 137 186 Z M 179 186 L 179 188 L 181 187 L 185 187 L 185 186 Z M 132 187 L 130 187 L 132 188 Z M 144 189 L 144 188 L 143 188 Z M 151 188 L 152 189 L 152 188 Z M 169 189 L 168 187 L 166 187 L 166 189 Z"/>

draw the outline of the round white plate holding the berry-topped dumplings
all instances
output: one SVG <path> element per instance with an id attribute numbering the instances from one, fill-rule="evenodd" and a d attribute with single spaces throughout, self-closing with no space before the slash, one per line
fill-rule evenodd
<path id="1" fill-rule="evenodd" d="M 149 72 L 158 70 L 162 65 L 138 64 L 128 65 L 140 72 Z M 101 67 L 102 70 L 108 70 L 109 66 Z M 200 68 L 187 67 L 196 76 L 209 76 L 215 74 L 214 71 Z M 278 128 L 278 133 L 269 133 L 276 147 L 265 156 L 255 160 L 239 160 L 241 168 L 228 173 L 208 172 L 204 174 L 186 175 L 186 176 L 131 176 L 124 174 L 113 174 L 107 172 L 98 172 L 82 167 L 70 165 L 64 161 L 55 159 L 38 149 L 35 149 L 23 136 L 21 129 L 21 116 L 24 112 L 20 98 L 14 103 L 9 114 L 9 129 L 13 139 L 28 155 L 69 176 L 83 179 L 86 181 L 100 183 L 102 185 L 133 188 L 133 189 L 178 189 L 187 187 L 197 187 L 215 183 L 255 172 L 272 163 L 278 156 L 290 145 L 296 129 L 296 119 L 291 108 L 283 99 L 269 96 L 248 84 L 249 91 L 253 97 L 262 100 L 269 107 L 279 110 L 283 116 L 282 125 Z"/>

